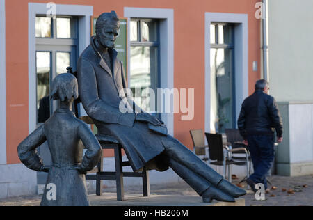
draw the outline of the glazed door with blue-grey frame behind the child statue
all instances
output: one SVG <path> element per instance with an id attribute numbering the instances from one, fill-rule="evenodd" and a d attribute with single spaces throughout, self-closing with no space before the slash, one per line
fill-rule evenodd
<path id="1" fill-rule="evenodd" d="M 51 84 L 57 74 L 77 62 L 77 18 L 38 15 L 35 19 L 36 75 L 37 75 L 37 123 L 45 123 L 58 102 L 49 99 Z"/>

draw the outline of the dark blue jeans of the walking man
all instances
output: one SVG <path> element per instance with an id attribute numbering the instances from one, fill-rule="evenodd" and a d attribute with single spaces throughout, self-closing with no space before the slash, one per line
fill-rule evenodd
<path id="1" fill-rule="evenodd" d="M 251 135 L 247 139 L 255 171 L 250 176 L 250 180 L 256 184 L 264 184 L 265 189 L 267 189 L 266 174 L 271 170 L 275 157 L 274 138 L 273 136 Z"/>

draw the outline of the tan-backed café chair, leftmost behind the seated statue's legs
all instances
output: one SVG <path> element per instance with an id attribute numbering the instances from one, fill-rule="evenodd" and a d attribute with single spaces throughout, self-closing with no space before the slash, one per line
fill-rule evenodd
<path id="1" fill-rule="evenodd" d="M 190 134 L 191 139 L 193 139 L 193 152 L 204 162 L 209 163 L 209 146 L 205 145 L 202 129 L 191 130 Z"/>

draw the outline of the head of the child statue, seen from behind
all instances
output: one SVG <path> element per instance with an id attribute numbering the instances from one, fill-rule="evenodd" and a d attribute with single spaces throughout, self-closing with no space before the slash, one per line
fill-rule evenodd
<path id="1" fill-rule="evenodd" d="M 51 100 L 71 102 L 79 96 L 77 79 L 73 74 L 58 74 L 52 84 Z"/>

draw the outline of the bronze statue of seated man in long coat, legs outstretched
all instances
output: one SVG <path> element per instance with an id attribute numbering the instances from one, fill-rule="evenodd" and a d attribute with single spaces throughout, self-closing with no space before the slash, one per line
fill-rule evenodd
<path id="1" fill-rule="evenodd" d="M 78 62 L 81 102 L 98 132 L 120 141 L 134 171 L 144 166 L 157 171 L 172 168 L 204 202 L 212 199 L 234 202 L 234 198 L 246 194 L 168 135 L 161 120 L 133 107 L 131 95 L 125 93 L 127 81 L 122 63 L 113 49 L 119 29 L 120 21 L 115 12 L 100 15 L 96 36 L 91 38 L 91 44 Z M 132 107 L 131 111 L 122 113 L 120 104 Z"/>

